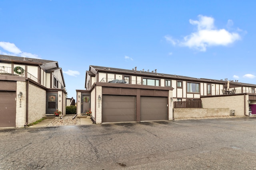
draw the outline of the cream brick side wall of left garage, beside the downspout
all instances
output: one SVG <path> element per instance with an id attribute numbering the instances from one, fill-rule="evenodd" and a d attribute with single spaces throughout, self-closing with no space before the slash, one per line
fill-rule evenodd
<path id="1" fill-rule="evenodd" d="M 28 124 L 33 123 L 46 114 L 46 90 L 34 84 L 28 86 Z"/>

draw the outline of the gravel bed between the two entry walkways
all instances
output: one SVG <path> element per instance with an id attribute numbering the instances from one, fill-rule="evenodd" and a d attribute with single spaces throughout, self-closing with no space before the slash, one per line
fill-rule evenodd
<path id="1" fill-rule="evenodd" d="M 80 119 L 77 117 L 72 119 L 74 116 L 75 114 L 66 114 L 62 119 L 56 117 L 47 126 L 80 125 Z"/>

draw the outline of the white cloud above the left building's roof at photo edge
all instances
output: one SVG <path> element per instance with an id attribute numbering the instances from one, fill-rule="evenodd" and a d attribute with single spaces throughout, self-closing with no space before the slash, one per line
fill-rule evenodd
<path id="1" fill-rule="evenodd" d="M 0 54 L 2 55 L 14 55 L 14 56 L 20 56 L 20 57 L 28 57 L 28 58 L 34 58 L 34 59 L 41 59 L 36 54 L 31 54 L 27 52 L 21 51 L 14 43 L 9 42 L 0 42 L 0 47 L 4 49 L 5 51 L 8 51 L 9 53 L 0 51 Z"/>

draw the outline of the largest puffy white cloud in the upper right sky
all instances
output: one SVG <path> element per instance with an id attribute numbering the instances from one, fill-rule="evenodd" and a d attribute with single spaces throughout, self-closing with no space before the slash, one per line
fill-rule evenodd
<path id="1" fill-rule="evenodd" d="M 197 25 L 197 31 L 184 37 L 183 41 L 178 43 L 180 46 L 186 46 L 199 51 L 206 51 L 210 46 L 226 46 L 240 39 L 240 35 L 235 32 L 229 32 L 226 29 L 216 29 L 214 26 L 214 18 L 207 16 L 198 16 L 199 20 L 189 20 L 192 25 Z M 228 20 L 228 25 L 232 25 L 233 21 Z M 175 45 L 178 40 L 172 37 L 164 36 L 166 41 Z"/>

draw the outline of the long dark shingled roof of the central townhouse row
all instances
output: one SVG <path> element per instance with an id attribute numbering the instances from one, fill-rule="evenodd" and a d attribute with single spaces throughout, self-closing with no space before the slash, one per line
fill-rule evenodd
<path id="1" fill-rule="evenodd" d="M 104 67 L 104 66 L 92 66 L 90 67 L 94 68 L 95 70 L 100 70 L 104 72 L 120 72 L 122 74 L 137 74 L 142 76 L 155 76 L 160 78 L 170 78 L 170 79 L 176 79 L 176 80 L 190 80 L 190 81 L 200 81 L 200 82 L 214 82 L 219 84 L 224 84 L 224 82 L 220 80 L 212 80 L 212 79 L 205 79 L 205 78 L 194 78 L 194 77 L 188 77 L 188 76 L 179 76 L 179 75 L 173 75 L 173 74 L 162 74 L 157 72 L 149 72 L 149 71 L 142 71 L 142 70 L 126 70 L 126 69 L 120 69 L 120 68 L 112 68 L 112 67 Z M 90 68 L 89 68 L 90 69 Z"/>

